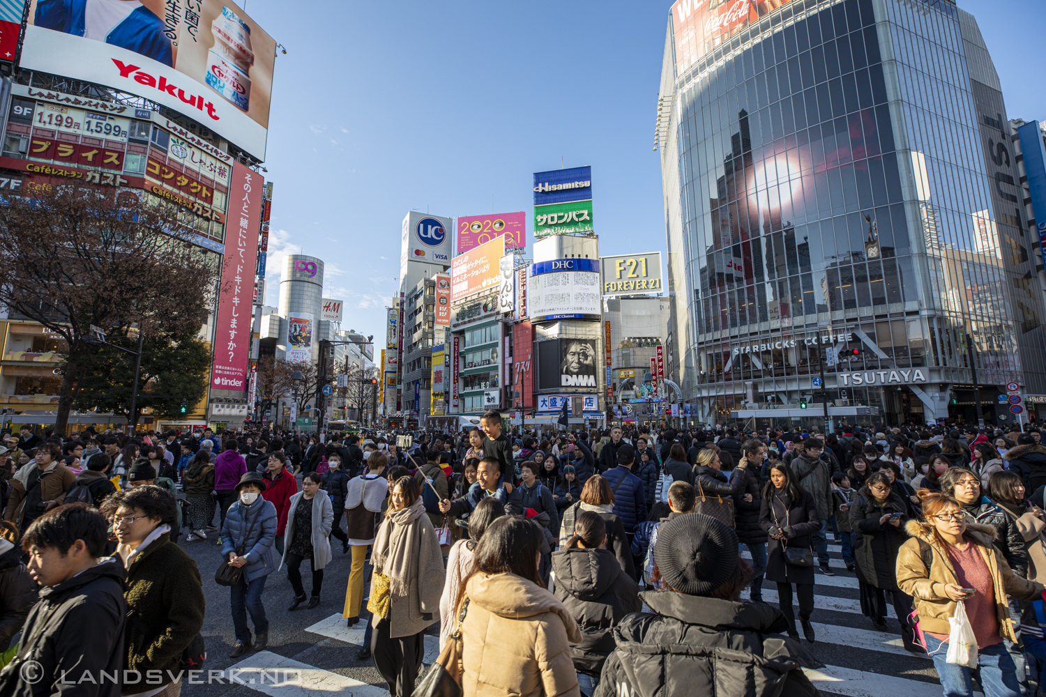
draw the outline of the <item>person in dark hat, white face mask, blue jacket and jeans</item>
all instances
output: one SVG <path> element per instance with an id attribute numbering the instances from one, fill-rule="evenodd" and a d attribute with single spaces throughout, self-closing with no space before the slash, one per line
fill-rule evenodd
<path id="1" fill-rule="evenodd" d="M 230 658 L 251 650 L 247 613 L 254 623 L 254 649 L 263 651 L 269 642 L 269 619 L 262 604 L 266 578 L 276 568 L 276 507 L 262 497 L 268 482 L 257 472 L 247 472 L 236 485 L 236 502 L 229 507 L 222 525 L 222 556 L 230 566 L 243 570 L 240 583 L 230 588 L 232 626 L 236 643 Z M 242 552 L 242 554 L 237 554 Z"/>

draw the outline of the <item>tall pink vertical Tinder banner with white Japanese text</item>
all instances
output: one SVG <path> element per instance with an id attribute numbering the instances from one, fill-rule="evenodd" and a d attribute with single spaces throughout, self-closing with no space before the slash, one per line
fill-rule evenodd
<path id="1" fill-rule="evenodd" d="M 222 285 L 214 331 L 211 387 L 247 389 L 247 353 L 251 345 L 251 293 L 257 265 L 262 187 L 265 180 L 238 162 L 232 163 L 229 225 L 225 240 Z"/>

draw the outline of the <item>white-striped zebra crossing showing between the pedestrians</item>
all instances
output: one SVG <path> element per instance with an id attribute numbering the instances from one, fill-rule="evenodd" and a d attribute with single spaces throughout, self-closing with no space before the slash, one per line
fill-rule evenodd
<path id="1" fill-rule="evenodd" d="M 939 697 L 940 683 L 932 661 L 925 655 L 904 649 L 896 621 L 887 619 L 893 631 L 880 632 L 861 614 L 857 578 L 845 571 L 838 543 L 829 541 L 831 567 L 837 576 L 815 576 L 814 614 L 812 623 L 817 641 L 812 647 L 824 668 L 808 670 L 806 675 L 824 695 L 844 697 Z M 748 556 L 748 553 L 743 553 Z M 745 591 L 743 598 L 747 598 Z M 764 583 L 763 600 L 776 604 L 773 583 Z M 794 601 L 795 602 L 795 601 Z M 798 608 L 796 608 L 798 609 Z M 365 625 L 345 626 L 340 614 L 333 614 L 304 629 L 317 637 L 342 642 L 346 648 L 363 643 Z M 438 655 L 438 638 L 425 637 L 426 665 Z M 337 692 L 351 697 L 387 697 L 384 683 L 368 684 L 332 670 L 323 670 L 262 651 L 237 663 L 234 667 L 245 678 L 246 687 L 269 697 L 315 697 L 320 693 Z M 295 678 L 280 681 L 280 671 Z M 276 677 L 273 678 L 272 676 Z M 257 679 L 254 679 L 254 678 Z"/>

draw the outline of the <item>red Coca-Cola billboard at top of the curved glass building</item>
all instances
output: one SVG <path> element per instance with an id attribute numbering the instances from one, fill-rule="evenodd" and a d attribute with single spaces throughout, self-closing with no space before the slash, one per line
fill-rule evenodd
<path id="1" fill-rule="evenodd" d="M 750 23 L 792 0 L 678 0 L 672 6 L 676 74 L 727 41 Z"/>

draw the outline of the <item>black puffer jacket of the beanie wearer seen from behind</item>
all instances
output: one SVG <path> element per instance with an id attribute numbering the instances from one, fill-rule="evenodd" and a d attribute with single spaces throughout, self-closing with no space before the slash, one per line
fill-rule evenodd
<path id="1" fill-rule="evenodd" d="M 639 597 L 657 614 L 631 614 L 614 628 L 617 648 L 596 697 L 819 694 L 802 669 L 822 664 L 777 633 L 787 624 L 776 607 L 681 593 Z"/>

